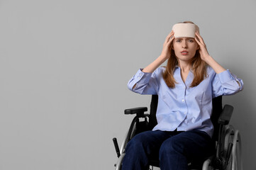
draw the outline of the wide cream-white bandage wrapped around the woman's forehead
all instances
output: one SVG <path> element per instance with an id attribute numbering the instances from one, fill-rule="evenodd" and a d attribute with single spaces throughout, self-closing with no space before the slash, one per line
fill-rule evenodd
<path id="1" fill-rule="evenodd" d="M 196 30 L 199 31 L 199 27 L 196 26 L 194 23 L 177 23 L 174 24 L 172 27 L 172 30 L 174 31 L 174 37 L 189 37 L 189 38 L 195 38 Z"/>

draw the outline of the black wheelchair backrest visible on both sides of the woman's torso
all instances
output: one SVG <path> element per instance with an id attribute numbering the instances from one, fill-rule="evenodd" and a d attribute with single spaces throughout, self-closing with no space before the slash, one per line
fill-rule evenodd
<path id="1" fill-rule="evenodd" d="M 157 103 L 158 103 L 158 96 L 152 95 L 151 103 L 150 103 L 150 115 L 149 115 L 149 124 L 148 127 L 150 130 L 157 125 Z M 223 108 L 222 108 L 222 96 L 218 96 L 213 98 L 213 111 L 211 114 L 211 122 L 213 123 L 214 132 L 213 132 L 213 140 L 218 140 L 218 118 L 221 115 Z"/>

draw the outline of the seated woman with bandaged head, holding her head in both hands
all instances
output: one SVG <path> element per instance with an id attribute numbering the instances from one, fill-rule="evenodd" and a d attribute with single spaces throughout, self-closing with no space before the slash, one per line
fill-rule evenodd
<path id="1" fill-rule="evenodd" d="M 189 160 L 214 149 L 212 98 L 241 91 L 243 81 L 208 54 L 198 26 L 187 21 L 174 25 L 161 55 L 139 69 L 128 88 L 158 95 L 157 125 L 128 142 L 122 169 L 147 169 L 148 159 L 157 155 L 161 170 L 184 170 Z"/>

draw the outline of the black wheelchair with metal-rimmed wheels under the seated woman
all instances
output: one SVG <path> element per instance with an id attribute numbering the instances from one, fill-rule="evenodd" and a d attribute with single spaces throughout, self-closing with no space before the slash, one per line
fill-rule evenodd
<path id="1" fill-rule="evenodd" d="M 122 169 L 123 157 L 126 154 L 127 143 L 138 133 L 146 130 L 152 130 L 157 125 L 156 111 L 157 111 L 158 96 L 152 95 L 150 103 L 150 114 L 147 107 L 126 109 L 126 115 L 135 114 L 130 128 L 126 133 L 126 137 L 122 142 L 121 149 L 118 147 L 116 137 L 113 138 L 114 147 L 116 149 L 118 160 L 115 169 Z M 241 137 L 238 130 L 235 130 L 232 125 L 229 125 L 231 115 L 233 113 L 233 106 L 222 106 L 222 96 L 213 98 L 213 111 L 211 121 L 213 123 L 214 132 L 213 140 L 216 143 L 216 152 L 211 157 L 206 157 L 199 162 L 189 162 L 189 169 L 203 169 L 203 170 L 243 170 L 242 162 L 242 147 Z M 159 166 L 159 160 L 150 160 L 150 169 Z"/>

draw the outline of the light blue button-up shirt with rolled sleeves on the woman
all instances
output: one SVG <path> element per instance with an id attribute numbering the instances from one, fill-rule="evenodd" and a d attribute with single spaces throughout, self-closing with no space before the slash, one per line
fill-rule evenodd
<path id="1" fill-rule="evenodd" d="M 212 98 L 235 94 L 243 89 L 243 80 L 238 79 L 229 70 L 216 74 L 211 67 L 207 67 L 206 79 L 198 86 L 190 87 L 194 79 L 193 72 L 189 72 L 184 83 L 181 69 L 177 67 L 174 70 L 177 84 L 173 89 L 169 88 L 162 78 L 165 67 L 159 67 L 153 73 L 141 70 L 130 79 L 128 88 L 138 94 L 158 95 L 157 125 L 153 130 L 202 130 L 212 137 Z"/>

